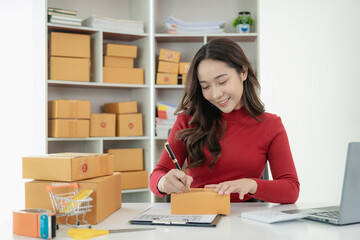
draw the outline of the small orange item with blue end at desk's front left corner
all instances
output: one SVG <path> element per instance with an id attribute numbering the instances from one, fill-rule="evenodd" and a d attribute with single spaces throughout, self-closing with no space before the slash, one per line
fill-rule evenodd
<path id="1" fill-rule="evenodd" d="M 13 212 L 13 232 L 17 235 L 49 239 L 56 236 L 56 217 L 48 209 Z"/>

